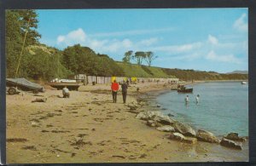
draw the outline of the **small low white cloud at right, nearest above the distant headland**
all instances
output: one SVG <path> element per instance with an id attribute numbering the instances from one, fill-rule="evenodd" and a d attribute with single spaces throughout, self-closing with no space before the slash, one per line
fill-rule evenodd
<path id="1" fill-rule="evenodd" d="M 213 60 L 213 61 L 220 61 L 220 62 L 236 63 L 236 64 L 241 63 L 241 60 L 236 58 L 234 54 L 218 55 L 218 54 L 215 54 L 213 50 L 207 54 L 206 59 Z"/>

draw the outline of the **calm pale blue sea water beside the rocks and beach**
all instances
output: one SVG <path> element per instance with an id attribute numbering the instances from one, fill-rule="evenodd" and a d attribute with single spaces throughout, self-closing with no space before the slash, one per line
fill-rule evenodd
<path id="1" fill-rule="evenodd" d="M 237 132 L 248 135 L 248 85 L 239 82 L 198 83 L 193 94 L 178 94 L 170 91 L 160 94 L 156 101 L 165 114 L 172 113 L 175 119 L 192 125 L 195 129 L 207 129 L 215 135 Z M 200 94 L 200 102 L 195 97 Z M 189 95 L 189 104 L 184 98 Z"/>

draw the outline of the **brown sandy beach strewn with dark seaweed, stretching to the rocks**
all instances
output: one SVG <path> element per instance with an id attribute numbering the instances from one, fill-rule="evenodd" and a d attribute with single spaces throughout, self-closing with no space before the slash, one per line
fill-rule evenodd
<path id="1" fill-rule="evenodd" d="M 42 96 L 7 94 L 7 163 L 248 161 L 248 141 L 241 151 L 202 141 L 191 145 L 170 140 L 170 134 L 136 118 L 139 112 L 157 109 L 147 102 L 154 92 L 167 89 L 170 85 L 163 83 L 132 84 L 126 104 L 120 91 L 113 103 L 110 84 L 81 86 L 69 99 L 49 87 Z M 138 101 L 142 96 L 148 100 Z M 41 98 L 46 102 L 32 102 Z M 138 106 L 136 112 L 129 104 Z"/>

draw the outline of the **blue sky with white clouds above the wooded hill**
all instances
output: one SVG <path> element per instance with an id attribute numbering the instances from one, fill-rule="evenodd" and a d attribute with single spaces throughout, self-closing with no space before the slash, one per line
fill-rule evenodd
<path id="1" fill-rule="evenodd" d="M 129 50 L 152 51 L 158 56 L 152 66 L 207 72 L 248 70 L 247 9 L 37 12 L 40 42 L 61 50 L 79 43 L 119 61 Z"/>

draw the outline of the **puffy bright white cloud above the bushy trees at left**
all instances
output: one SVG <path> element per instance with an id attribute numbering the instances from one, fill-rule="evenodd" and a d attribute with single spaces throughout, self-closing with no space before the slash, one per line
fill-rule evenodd
<path id="1" fill-rule="evenodd" d="M 85 42 L 86 35 L 82 28 L 78 30 L 70 31 L 67 35 L 60 35 L 57 37 L 57 44 L 65 43 L 66 45 L 72 45 L 76 43 Z"/>

